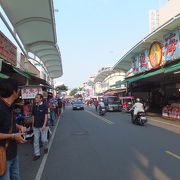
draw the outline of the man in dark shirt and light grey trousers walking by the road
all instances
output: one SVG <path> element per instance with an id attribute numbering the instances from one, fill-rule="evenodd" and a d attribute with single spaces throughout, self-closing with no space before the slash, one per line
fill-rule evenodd
<path id="1" fill-rule="evenodd" d="M 32 108 L 32 127 L 34 132 L 34 161 L 40 158 L 40 137 L 44 147 L 44 153 L 48 153 L 47 118 L 48 107 L 46 104 L 43 103 L 43 95 L 37 94 L 35 97 L 35 104 Z"/>

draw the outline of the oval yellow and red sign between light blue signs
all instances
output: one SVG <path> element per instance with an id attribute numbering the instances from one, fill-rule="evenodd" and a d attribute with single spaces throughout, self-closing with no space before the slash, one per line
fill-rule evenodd
<path id="1" fill-rule="evenodd" d="M 153 69 L 158 68 L 162 62 L 161 43 L 154 42 L 149 49 L 149 62 Z"/>

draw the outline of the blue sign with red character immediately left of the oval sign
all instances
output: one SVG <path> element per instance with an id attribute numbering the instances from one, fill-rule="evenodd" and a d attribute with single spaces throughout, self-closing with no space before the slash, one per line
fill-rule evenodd
<path id="1" fill-rule="evenodd" d="M 148 70 L 148 51 L 145 49 L 141 53 L 139 53 L 137 56 L 134 56 L 132 58 L 132 69 L 133 73 L 140 73 L 142 71 Z"/>

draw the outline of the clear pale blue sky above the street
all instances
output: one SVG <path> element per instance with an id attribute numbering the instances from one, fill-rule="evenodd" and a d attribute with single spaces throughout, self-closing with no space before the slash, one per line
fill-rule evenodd
<path id="1" fill-rule="evenodd" d="M 56 83 L 79 87 L 113 66 L 149 33 L 150 9 L 167 0 L 54 0 L 64 75 Z"/>

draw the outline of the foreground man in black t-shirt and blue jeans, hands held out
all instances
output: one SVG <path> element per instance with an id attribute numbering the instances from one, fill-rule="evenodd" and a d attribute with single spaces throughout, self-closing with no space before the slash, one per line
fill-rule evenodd
<path id="1" fill-rule="evenodd" d="M 26 128 L 17 125 L 13 118 L 12 105 L 18 97 L 17 81 L 11 78 L 0 79 L 0 146 L 6 148 L 7 165 L 6 173 L 0 176 L 0 180 L 20 180 L 17 142 L 26 142 L 22 137 Z"/>

